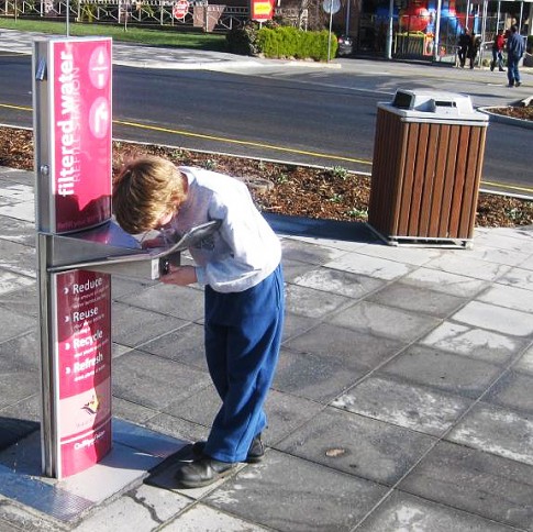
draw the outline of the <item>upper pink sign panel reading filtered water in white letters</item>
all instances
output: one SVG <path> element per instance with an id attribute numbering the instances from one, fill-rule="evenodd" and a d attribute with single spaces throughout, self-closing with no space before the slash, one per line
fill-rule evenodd
<path id="1" fill-rule="evenodd" d="M 111 218 L 111 38 L 51 41 L 55 233 Z"/>

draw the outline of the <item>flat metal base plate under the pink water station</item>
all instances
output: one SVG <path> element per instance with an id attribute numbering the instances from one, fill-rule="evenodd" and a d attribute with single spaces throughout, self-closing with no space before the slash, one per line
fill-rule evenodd
<path id="1" fill-rule="evenodd" d="M 112 451 L 91 468 L 56 480 L 41 476 L 36 431 L 0 453 L 0 495 L 59 521 L 77 521 L 126 487 L 141 485 L 149 472 L 188 442 L 113 419 Z"/>

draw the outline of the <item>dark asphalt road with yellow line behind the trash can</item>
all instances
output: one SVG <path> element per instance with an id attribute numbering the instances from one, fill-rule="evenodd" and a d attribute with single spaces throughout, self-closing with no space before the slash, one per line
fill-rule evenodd
<path id="1" fill-rule="evenodd" d="M 377 102 L 412 84 L 379 73 L 237 75 L 115 66 L 113 136 L 369 173 Z M 438 77 L 421 85 L 448 89 Z M 32 125 L 31 90 L 31 58 L 0 57 L 0 122 Z M 489 101 L 490 90 L 476 97 Z M 533 195 L 525 156 L 532 143 L 533 130 L 491 123 L 485 188 Z"/>

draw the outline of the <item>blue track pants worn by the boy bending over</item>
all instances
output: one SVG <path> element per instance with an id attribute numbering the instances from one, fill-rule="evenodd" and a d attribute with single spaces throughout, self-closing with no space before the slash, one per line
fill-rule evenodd
<path id="1" fill-rule="evenodd" d="M 242 292 L 206 287 L 206 356 L 222 399 L 204 453 L 222 462 L 244 462 L 252 440 L 266 426 L 263 410 L 284 326 L 281 265 Z"/>

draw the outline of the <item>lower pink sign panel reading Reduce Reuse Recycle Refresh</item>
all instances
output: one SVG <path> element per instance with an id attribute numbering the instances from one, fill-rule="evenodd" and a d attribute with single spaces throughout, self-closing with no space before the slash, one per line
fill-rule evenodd
<path id="1" fill-rule="evenodd" d="M 111 450 L 111 278 L 76 269 L 56 274 L 54 289 L 60 478 Z"/>

